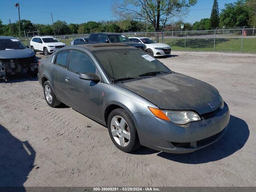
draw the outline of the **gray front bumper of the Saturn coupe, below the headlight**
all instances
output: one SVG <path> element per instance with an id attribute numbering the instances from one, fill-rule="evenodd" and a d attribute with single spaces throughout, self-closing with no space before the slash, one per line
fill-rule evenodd
<path id="1" fill-rule="evenodd" d="M 227 104 L 210 118 L 178 126 L 154 116 L 135 113 L 140 144 L 169 153 L 188 153 L 204 148 L 221 138 L 230 119 Z"/>

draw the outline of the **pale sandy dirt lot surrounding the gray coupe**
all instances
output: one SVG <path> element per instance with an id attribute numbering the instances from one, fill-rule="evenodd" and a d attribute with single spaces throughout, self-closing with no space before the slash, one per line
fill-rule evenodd
<path id="1" fill-rule="evenodd" d="M 229 105 L 218 142 L 191 154 L 126 154 L 104 126 L 50 108 L 36 78 L 11 78 L 0 83 L 0 186 L 256 186 L 256 55 L 172 54 L 160 60 L 212 84 Z"/>

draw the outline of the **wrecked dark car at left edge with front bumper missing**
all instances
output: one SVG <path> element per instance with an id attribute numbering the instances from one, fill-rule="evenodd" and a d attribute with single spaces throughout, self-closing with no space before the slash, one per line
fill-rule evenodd
<path id="1" fill-rule="evenodd" d="M 38 72 L 35 53 L 14 37 L 0 36 L 0 79 L 10 75 Z"/>

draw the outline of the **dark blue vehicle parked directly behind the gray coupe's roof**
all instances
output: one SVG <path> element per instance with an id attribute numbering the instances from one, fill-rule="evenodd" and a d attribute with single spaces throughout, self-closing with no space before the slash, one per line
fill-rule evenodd
<path id="1" fill-rule="evenodd" d="M 123 43 L 146 51 L 144 44 L 132 42 L 125 35 L 118 33 L 92 33 L 88 39 L 88 44 L 90 43 Z"/>

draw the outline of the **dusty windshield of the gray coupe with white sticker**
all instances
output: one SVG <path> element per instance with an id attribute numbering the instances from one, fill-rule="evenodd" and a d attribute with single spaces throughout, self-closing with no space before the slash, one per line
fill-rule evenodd
<path id="1" fill-rule="evenodd" d="M 111 81 L 156 76 L 160 72 L 172 72 L 160 61 L 140 49 L 98 50 L 93 53 Z"/>

